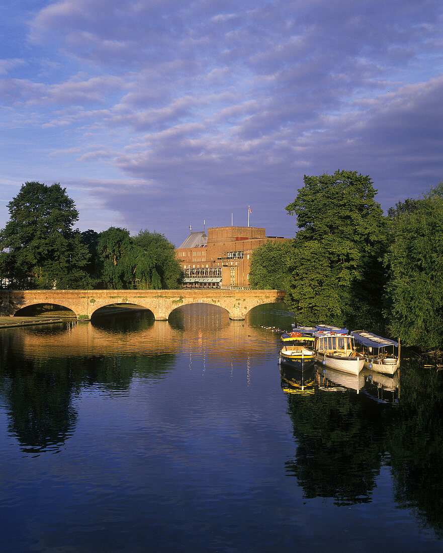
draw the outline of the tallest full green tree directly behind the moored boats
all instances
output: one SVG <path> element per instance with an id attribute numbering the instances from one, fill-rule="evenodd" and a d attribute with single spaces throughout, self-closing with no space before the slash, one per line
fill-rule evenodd
<path id="1" fill-rule="evenodd" d="M 304 176 L 296 215 L 290 307 L 301 324 L 382 324 L 385 220 L 372 179 L 357 171 Z"/>

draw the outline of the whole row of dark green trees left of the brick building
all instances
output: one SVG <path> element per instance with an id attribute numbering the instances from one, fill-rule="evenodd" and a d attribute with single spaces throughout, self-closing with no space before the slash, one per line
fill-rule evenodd
<path id="1" fill-rule="evenodd" d="M 0 231 L 0 277 L 8 288 L 180 288 L 181 267 L 164 234 L 73 228 L 74 201 L 60 184 L 25 182 Z"/>

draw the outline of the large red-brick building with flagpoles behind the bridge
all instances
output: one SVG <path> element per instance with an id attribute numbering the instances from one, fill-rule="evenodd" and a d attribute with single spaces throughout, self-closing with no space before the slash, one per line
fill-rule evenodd
<path id="1" fill-rule="evenodd" d="M 249 288 L 251 254 L 280 236 L 265 236 L 264 228 L 215 227 L 191 232 L 175 255 L 184 273 L 184 288 Z"/>

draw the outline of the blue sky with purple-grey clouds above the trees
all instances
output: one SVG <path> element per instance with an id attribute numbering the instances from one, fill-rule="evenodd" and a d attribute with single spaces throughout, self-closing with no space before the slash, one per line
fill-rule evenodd
<path id="1" fill-rule="evenodd" d="M 441 0 L 8 0 L 0 228 L 26 181 L 76 227 L 264 227 L 304 175 L 370 175 L 384 211 L 443 179 Z"/>

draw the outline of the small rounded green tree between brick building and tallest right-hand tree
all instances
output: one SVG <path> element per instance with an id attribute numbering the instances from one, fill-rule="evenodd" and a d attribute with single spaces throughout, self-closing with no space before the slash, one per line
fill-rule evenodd
<path id="1" fill-rule="evenodd" d="M 288 290 L 293 265 L 293 241 L 266 242 L 252 252 L 249 285 L 261 290 Z"/>

